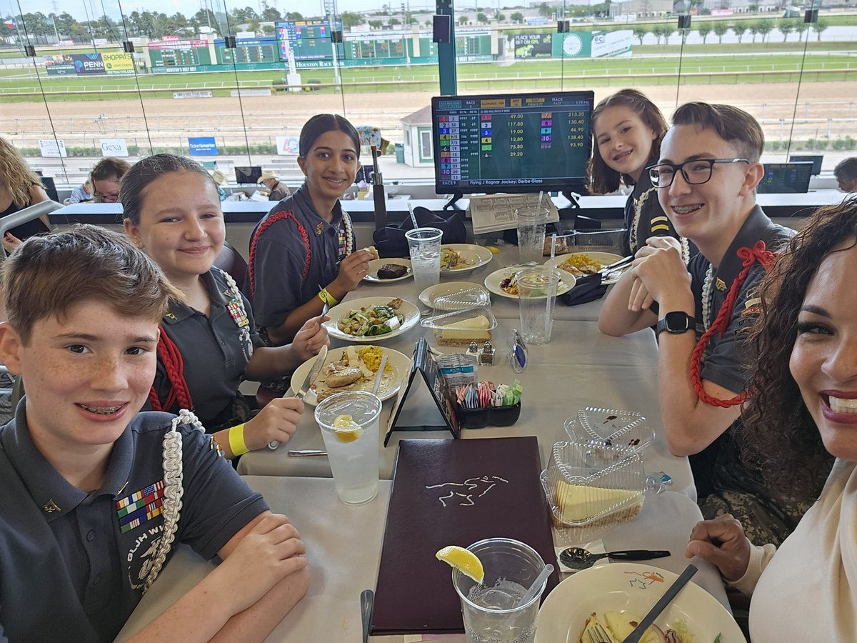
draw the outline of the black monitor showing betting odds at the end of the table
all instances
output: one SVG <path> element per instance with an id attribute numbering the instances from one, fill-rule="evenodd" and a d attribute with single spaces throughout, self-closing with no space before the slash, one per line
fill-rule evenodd
<path id="1" fill-rule="evenodd" d="M 431 101 L 438 194 L 579 189 L 592 92 L 440 96 Z"/>

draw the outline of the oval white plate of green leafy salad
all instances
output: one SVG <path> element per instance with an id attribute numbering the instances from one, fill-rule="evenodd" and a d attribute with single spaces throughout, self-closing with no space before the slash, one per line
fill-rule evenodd
<path id="1" fill-rule="evenodd" d="M 333 306 L 324 327 L 338 340 L 376 342 L 403 334 L 420 321 L 420 309 L 399 297 L 363 297 Z"/>

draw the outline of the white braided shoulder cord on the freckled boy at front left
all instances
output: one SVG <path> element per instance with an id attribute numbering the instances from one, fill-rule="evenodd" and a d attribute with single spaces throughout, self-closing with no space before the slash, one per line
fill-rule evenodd
<path id="1" fill-rule="evenodd" d="M 182 435 L 177 431 L 179 424 L 192 424 L 196 429 L 204 431 L 202 424 L 196 416 L 187 409 L 178 412 L 176 418 L 172 419 L 172 426 L 164 435 L 164 529 L 158 544 L 158 552 L 155 554 L 152 569 L 146 577 L 143 593 L 148 592 L 170 553 L 172 541 L 176 538 L 178 531 L 178 519 L 182 511 L 183 468 L 182 468 Z"/>

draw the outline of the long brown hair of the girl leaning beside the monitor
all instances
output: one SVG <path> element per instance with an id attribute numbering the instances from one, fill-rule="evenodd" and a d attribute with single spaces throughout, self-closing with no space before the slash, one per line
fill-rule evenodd
<path id="1" fill-rule="evenodd" d="M 652 103 L 650 99 L 642 92 L 636 89 L 623 89 L 620 92 L 614 93 L 603 99 L 595 110 L 592 111 L 590 119 L 592 127 L 592 158 L 589 162 L 589 179 L 592 192 L 596 195 L 615 192 L 619 189 L 620 183 L 633 185 L 632 177 L 620 174 L 602 159 L 601 152 L 598 150 L 598 141 L 595 136 L 595 122 L 603 111 L 610 107 L 627 107 L 632 110 L 640 120 L 645 123 L 645 126 L 655 132 L 656 137 L 651 141 L 651 151 L 646 165 L 654 164 L 661 157 L 661 139 L 667 131 L 667 121 L 663 114 L 657 108 L 657 105 Z"/>

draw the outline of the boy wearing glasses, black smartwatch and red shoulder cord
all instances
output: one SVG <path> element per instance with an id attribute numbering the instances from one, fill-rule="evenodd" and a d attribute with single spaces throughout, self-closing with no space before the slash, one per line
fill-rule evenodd
<path id="1" fill-rule="evenodd" d="M 764 263 L 794 234 L 756 204 L 763 146 L 756 120 L 735 107 L 675 111 L 661 159 L 646 171 L 675 231 L 699 254 L 685 267 L 671 238 L 650 238 L 609 293 L 598 328 L 618 336 L 656 326 L 667 444 L 690 456 L 703 513 L 736 514 L 751 539 L 779 544 L 806 508 L 771 496 L 740 459 L 742 329 L 758 311 Z"/>

